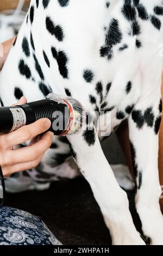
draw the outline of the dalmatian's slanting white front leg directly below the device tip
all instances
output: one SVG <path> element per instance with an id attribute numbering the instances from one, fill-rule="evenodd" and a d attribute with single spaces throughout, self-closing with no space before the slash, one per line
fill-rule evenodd
<path id="1" fill-rule="evenodd" d="M 89 182 L 114 245 L 144 245 L 129 211 L 127 194 L 117 184 L 92 127 L 67 136 L 76 162 Z"/>

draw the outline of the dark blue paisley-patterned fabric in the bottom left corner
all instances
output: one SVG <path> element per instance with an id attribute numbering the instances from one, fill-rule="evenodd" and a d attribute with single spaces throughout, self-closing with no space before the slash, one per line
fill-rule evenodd
<path id="1" fill-rule="evenodd" d="M 0 208 L 0 245 L 61 245 L 39 217 Z"/>

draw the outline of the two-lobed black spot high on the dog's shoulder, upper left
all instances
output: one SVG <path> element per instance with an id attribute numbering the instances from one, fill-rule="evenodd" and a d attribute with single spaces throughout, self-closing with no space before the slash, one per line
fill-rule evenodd
<path id="1" fill-rule="evenodd" d="M 55 38 L 58 39 L 58 41 L 62 41 L 64 39 L 62 28 L 59 25 L 55 25 L 50 17 L 46 18 L 46 28 L 51 35 L 54 35 Z"/>

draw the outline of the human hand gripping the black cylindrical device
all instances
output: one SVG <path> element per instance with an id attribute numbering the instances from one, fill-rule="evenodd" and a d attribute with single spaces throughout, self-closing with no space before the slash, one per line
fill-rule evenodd
<path id="1" fill-rule="evenodd" d="M 25 103 L 26 97 L 22 97 L 16 105 Z M 0 135 L 0 164 L 4 178 L 12 173 L 38 166 L 46 150 L 51 147 L 53 139 L 53 133 L 50 131 L 40 134 L 47 131 L 50 126 L 51 121 L 43 118 L 14 132 Z M 13 149 L 15 145 L 29 140 L 31 141 L 27 147 Z"/>

